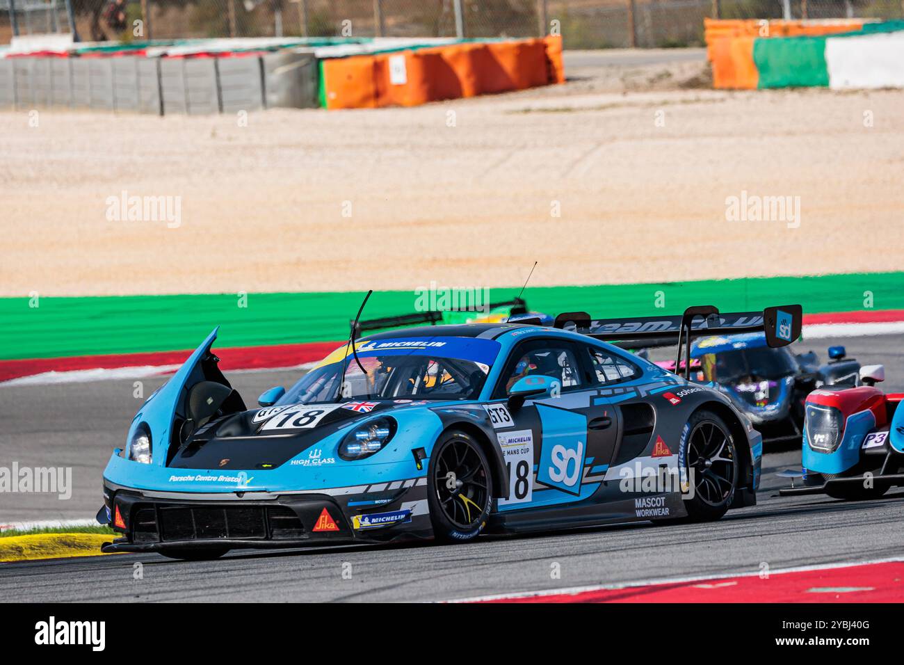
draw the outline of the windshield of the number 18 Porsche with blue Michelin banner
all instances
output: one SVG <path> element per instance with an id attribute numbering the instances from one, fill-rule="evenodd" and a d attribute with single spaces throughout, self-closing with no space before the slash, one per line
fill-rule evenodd
<path id="1" fill-rule="evenodd" d="M 418 347 L 402 346 L 411 343 L 408 340 L 365 342 L 358 347 L 365 371 L 351 354 L 342 359 L 346 353 L 346 347 L 342 347 L 303 376 L 277 404 L 327 404 L 350 399 L 476 399 L 498 353 L 498 342 L 462 337 L 438 339 L 441 341 L 433 340 L 436 346 L 428 346 L 429 341 L 425 340 L 418 342 Z"/>

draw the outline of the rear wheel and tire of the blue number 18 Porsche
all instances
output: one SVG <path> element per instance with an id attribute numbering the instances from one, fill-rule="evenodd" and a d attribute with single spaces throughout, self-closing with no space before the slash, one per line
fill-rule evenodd
<path id="1" fill-rule="evenodd" d="M 692 413 L 685 425 L 678 461 L 693 486 L 693 498 L 684 500 L 687 520 L 721 518 L 738 487 L 738 451 L 729 426 L 711 411 Z"/>

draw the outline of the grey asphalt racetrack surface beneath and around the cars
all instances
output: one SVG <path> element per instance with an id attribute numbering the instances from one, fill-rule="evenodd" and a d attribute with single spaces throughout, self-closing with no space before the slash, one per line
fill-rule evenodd
<path id="1" fill-rule="evenodd" d="M 838 340 L 863 364 L 883 363 L 886 389 L 904 390 L 899 336 Z M 824 356 L 831 340 L 815 340 Z M 292 373 L 239 373 L 246 394 Z M 160 380 L 145 380 L 145 394 Z M 99 507 L 99 478 L 138 400 L 131 381 L 0 387 L 0 466 L 72 466 L 72 498 L 4 494 L 0 521 L 82 518 Z M 719 522 L 485 537 L 458 546 L 415 544 L 288 552 L 245 551 L 213 562 L 118 555 L 0 565 L 5 601 L 430 601 L 683 576 L 741 575 L 900 556 L 904 490 L 845 503 L 778 498 L 777 470 L 799 451 L 768 451 L 758 505 Z M 137 564 L 141 566 L 137 566 Z M 136 579 L 137 568 L 141 577 Z M 558 576 L 556 575 L 558 573 Z M 802 598 L 801 600 L 811 600 Z"/>

